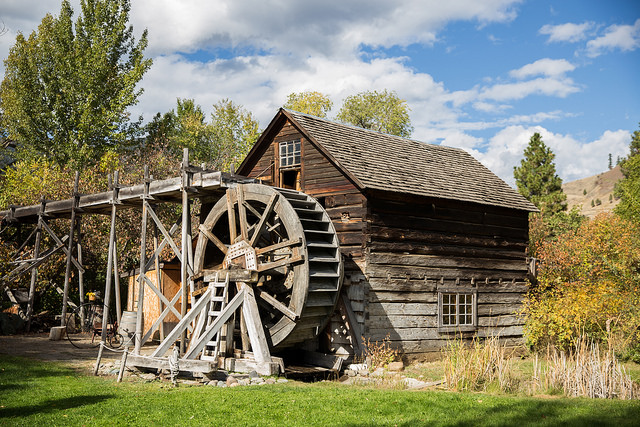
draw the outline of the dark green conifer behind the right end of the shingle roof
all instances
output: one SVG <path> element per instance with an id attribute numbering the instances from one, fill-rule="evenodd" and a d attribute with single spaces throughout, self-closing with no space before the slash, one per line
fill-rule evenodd
<path id="1" fill-rule="evenodd" d="M 545 215 L 567 209 L 567 196 L 562 191 L 562 179 L 556 175 L 555 154 L 534 133 L 524 150 L 519 167 L 513 168 L 518 191 Z"/>

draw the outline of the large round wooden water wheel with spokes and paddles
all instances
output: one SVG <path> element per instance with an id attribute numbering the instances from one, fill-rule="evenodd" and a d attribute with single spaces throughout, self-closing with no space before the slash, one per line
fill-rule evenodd
<path id="1" fill-rule="evenodd" d="M 342 283 L 327 212 L 304 193 L 261 184 L 229 189 L 213 206 L 200 225 L 194 270 L 196 277 L 245 273 L 235 280 L 252 283 L 272 348 L 315 337 Z"/>

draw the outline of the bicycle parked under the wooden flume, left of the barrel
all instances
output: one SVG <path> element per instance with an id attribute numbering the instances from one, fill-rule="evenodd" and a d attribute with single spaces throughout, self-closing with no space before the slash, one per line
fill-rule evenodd
<path id="1" fill-rule="evenodd" d="M 67 315 L 66 335 L 74 347 L 95 348 L 100 345 L 103 312 L 104 306 L 95 301 L 79 305 Z M 89 337 L 91 338 L 90 344 L 87 343 Z M 97 340 L 96 337 L 98 337 Z M 113 313 L 109 312 L 106 343 L 111 348 L 119 348 L 123 342 L 124 338 L 118 332 L 118 322 L 115 320 Z"/>

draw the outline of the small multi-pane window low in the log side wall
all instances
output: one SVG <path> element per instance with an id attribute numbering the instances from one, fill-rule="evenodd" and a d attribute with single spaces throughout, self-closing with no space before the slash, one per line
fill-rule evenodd
<path id="1" fill-rule="evenodd" d="M 438 326 L 447 330 L 469 330 L 476 326 L 476 294 L 475 292 L 438 293 L 439 316 Z"/>

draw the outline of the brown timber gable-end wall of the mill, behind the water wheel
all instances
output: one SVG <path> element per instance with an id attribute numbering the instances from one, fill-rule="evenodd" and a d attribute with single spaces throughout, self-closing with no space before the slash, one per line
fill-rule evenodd
<path id="1" fill-rule="evenodd" d="M 358 319 L 360 330 L 365 322 L 366 282 L 363 273 L 364 218 L 367 211 L 366 198 L 354 184 L 336 168 L 324 154 L 287 122 L 273 138 L 269 147 L 248 173 L 248 177 L 262 180 L 265 184 L 286 187 L 282 182 L 279 167 L 280 142 L 300 140 L 301 162 L 296 189 L 318 199 L 331 217 L 338 233 L 340 249 L 344 256 L 343 292 L 346 292 L 351 307 Z M 274 160 L 275 159 L 275 160 Z M 288 168 L 288 170 L 298 169 Z M 337 354 L 353 353 L 351 337 L 344 326 L 344 319 L 336 312 L 320 338 L 323 351 Z"/>

